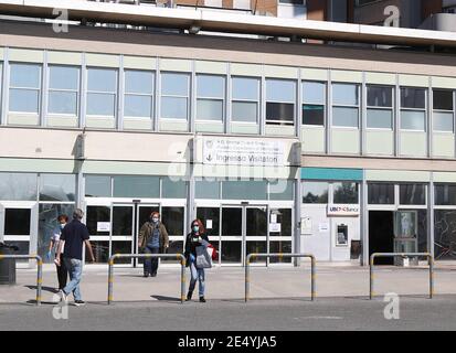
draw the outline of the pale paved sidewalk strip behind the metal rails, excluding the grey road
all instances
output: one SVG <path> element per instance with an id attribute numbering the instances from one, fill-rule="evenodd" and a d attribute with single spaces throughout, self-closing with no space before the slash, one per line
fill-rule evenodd
<path id="1" fill-rule="evenodd" d="M 180 267 L 161 266 L 158 277 L 142 278 L 141 268 L 115 268 L 114 301 L 176 301 L 180 300 Z M 206 298 L 244 298 L 244 272 L 241 267 L 212 268 L 206 271 Z M 426 267 L 377 267 L 375 292 L 426 297 L 428 270 Z M 187 285 L 189 270 L 185 270 Z M 35 299 L 36 270 L 18 269 L 15 286 L 0 286 L 0 303 L 30 303 Z M 55 268 L 45 265 L 42 301 L 52 302 L 57 286 Z M 85 268 L 82 281 L 83 299 L 106 302 L 107 266 Z M 198 289 L 198 288 L 197 288 Z M 436 266 L 435 295 L 456 295 L 456 267 Z M 309 298 L 310 267 L 253 267 L 251 298 Z M 318 298 L 356 298 L 369 296 L 369 268 L 317 264 Z M 195 296 L 197 297 L 197 296 Z M 71 298 L 72 299 L 72 298 Z M 1 310 L 1 307 L 0 307 Z"/>

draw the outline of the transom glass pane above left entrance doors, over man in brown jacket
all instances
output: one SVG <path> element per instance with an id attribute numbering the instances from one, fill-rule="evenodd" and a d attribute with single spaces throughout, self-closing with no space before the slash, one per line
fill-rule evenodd
<path id="1" fill-rule="evenodd" d="M 160 197 L 159 176 L 114 176 L 114 197 Z"/>

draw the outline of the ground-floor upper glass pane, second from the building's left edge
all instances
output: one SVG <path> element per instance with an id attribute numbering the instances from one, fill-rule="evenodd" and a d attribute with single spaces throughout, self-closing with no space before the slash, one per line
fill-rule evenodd
<path id="1" fill-rule="evenodd" d="M 40 175 L 40 201 L 74 201 L 75 193 L 76 175 Z"/>

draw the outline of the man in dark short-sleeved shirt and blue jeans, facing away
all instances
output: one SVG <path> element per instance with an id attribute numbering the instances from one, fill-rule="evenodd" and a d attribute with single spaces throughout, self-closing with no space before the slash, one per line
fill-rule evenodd
<path id="1" fill-rule="evenodd" d="M 81 278 L 83 275 L 83 244 L 88 249 L 89 259 L 95 261 L 94 252 L 89 242 L 88 229 L 81 221 L 84 217 L 84 212 L 76 208 L 73 212 L 73 221 L 70 222 L 62 231 L 60 238 L 59 250 L 55 257 L 57 266 L 62 265 L 61 254 L 65 247 L 65 252 L 62 254 L 63 263 L 65 264 L 70 272 L 70 284 L 60 291 L 63 301 L 67 302 L 67 296 L 72 292 L 74 297 L 74 304 L 76 307 L 84 306 L 85 302 L 81 296 Z"/>

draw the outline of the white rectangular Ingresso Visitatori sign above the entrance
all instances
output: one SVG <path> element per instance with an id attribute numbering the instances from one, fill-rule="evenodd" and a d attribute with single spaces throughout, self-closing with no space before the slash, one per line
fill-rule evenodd
<path id="1" fill-rule="evenodd" d="M 284 165 L 284 143 L 267 140 L 234 140 L 210 138 L 203 140 L 204 164 Z"/>

